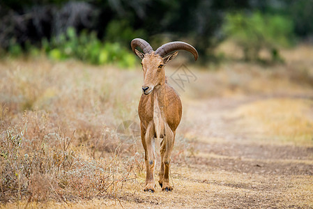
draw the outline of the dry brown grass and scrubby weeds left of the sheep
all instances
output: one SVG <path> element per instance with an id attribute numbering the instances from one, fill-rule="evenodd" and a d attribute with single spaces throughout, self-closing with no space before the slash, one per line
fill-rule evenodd
<path id="1" fill-rule="evenodd" d="M 115 127 L 135 114 L 121 102 L 135 95 L 114 90 L 111 82 L 128 76 L 114 70 L 45 59 L 3 61 L 1 201 L 90 199 L 112 194 L 131 178 L 142 159 Z"/>

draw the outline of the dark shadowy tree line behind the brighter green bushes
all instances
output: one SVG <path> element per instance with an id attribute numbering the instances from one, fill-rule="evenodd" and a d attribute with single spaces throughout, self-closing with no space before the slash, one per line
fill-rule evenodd
<path id="1" fill-rule="evenodd" d="M 283 15 L 294 23 L 299 38 L 313 36 L 312 0 L 6 0 L 0 1 L 0 47 L 10 39 L 22 45 L 39 45 L 74 27 L 96 31 L 100 40 L 129 47 L 142 37 L 160 45 L 168 40 L 188 40 L 207 60 L 225 38 L 221 28 L 227 13 L 258 10 Z M 166 40 L 167 41 L 167 40 Z M 12 41 L 11 41 L 12 42 Z"/>

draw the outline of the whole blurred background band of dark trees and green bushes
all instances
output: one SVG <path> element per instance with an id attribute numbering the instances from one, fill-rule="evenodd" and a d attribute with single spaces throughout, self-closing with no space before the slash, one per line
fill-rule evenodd
<path id="1" fill-rule="evenodd" d="M 259 59 L 262 48 L 280 60 L 280 47 L 312 42 L 312 10 L 311 0 L 7 0 L 0 6 L 0 47 L 15 56 L 37 54 L 36 47 L 54 59 L 74 56 L 95 64 L 116 61 L 132 66 L 123 50 L 129 50 L 133 38 L 144 38 L 153 46 L 186 40 L 197 48 L 202 63 L 214 61 L 213 49 L 232 38 L 245 51 L 246 60 Z M 73 29 L 79 38 L 74 38 Z M 107 57 L 112 53 L 121 56 Z"/>

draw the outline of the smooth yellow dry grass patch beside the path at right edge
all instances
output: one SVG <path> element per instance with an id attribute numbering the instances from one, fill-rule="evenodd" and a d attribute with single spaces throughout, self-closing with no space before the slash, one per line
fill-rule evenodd
<path id="1" fill-rule="evenodd" d="M 312 146 L 312 100 L 275 98 L 242 105 L 231 117 L 238 125 L 269 139 Z"/>

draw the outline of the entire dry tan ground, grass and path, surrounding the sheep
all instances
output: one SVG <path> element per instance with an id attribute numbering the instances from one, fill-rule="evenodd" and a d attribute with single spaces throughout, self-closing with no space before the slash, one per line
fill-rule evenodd
<path id="1" fill-rule="evenodd" d="M 139 67 L 1 60 L 0 207 L 312 208 L 313 49 L 282 55 L 188 65 L 197 80 L 183 88 L 169 77 L 183 102 L 174 191 L 154 194 L 143 192 Z"/>

